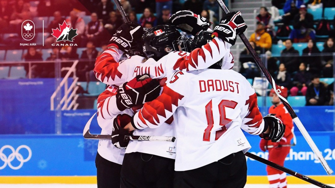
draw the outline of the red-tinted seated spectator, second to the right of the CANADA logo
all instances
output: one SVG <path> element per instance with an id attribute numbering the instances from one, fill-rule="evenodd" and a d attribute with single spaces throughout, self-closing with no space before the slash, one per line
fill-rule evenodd
<path id="1" fill-rule="evenodd" d="M 98 16 L 95 12 L 91 14 L 91 21 L 88 22 L 85 28 L 85 35 L 83 36 L 83 42 L 86 44 L 88 40 L 93 41 L 94 45 L 99 45 L 104 26 L 102 22 L 98 20 Z"/>

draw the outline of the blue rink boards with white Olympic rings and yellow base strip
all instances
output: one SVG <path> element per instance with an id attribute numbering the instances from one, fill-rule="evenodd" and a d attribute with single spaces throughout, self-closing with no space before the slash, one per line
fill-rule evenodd
<path id="1" fill-rule="evenodd" d="M 285 167 L 323 183 L 335 182 L 327 176 L 319 160 L 296 132 L 297 145 L 291 148 Z M 314 142 L 335 169 L 335 133 L 310 132 Z M 262 152 L 259 137 L 247 135 L 253 148 L 249 151 L 267 158 Z M 97 140 L 83 139 L 81 134 L 31 134 L 0 136 L 0 183 L 95 183 L 94 159 Z M 247 158 L 248 183 L 266 183 L 265 165 Z M 291 183 L 303 183 L 289 177 Z"/>

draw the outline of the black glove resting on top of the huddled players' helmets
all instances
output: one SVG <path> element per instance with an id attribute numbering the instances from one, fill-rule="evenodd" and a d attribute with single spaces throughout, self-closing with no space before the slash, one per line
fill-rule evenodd
<path id="1" fill-rule="evenodd" d="M 210 25 L 209 20 L 188 10 L 181 10 L 169 18 L 169 23 L 182 31 L 196 35 L 199 31 L 206 31 Z"/>

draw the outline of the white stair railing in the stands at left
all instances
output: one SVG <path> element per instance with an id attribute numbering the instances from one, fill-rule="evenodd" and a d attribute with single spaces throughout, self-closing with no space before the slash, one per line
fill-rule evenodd
<path id="1" fill-rule="evenodd" d="M 75 110 L 78 107 L 78 103 L 76 102 L 78 99 L 78 94 L 76 94 L 76 91 L 78 90 L 79 86 L 77 86 L 78 77 L 76 76 L 76 65 L 78 64 L 78 60 L 73 62 L 73 65 L 68 68 L 62 68 L 61 71 L 68 70 L 65 77 L 61 81 L 61 83 L 57 86 L 57 89 L 50 97 L 50 110 Z M 73 82 L 69 86 L 68 79 L 73 73 Z M 57 93 L 61 92 L 61 89 L 64 88 L 64 96 L 60 100 L 60 102 L 57 104 L 57 107 L 55 108 L 55 97 Z M 72 101 L 71 101 L 72 100 Z M 71 103 L 70 103 L 71 102 Z M 70 103 L 70 104 L 69 104 Z"/>

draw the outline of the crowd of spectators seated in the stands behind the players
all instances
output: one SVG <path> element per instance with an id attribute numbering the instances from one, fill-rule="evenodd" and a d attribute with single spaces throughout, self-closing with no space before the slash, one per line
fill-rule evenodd
<path id="1" fill-rule="evenodd" d="M 207 19 L 211 17 L 214 25 L 219 20 L 219 6 L 215 0 L 120 0 L 120 3 L 131 22 L 146 28 L 167 24 L 169 17 L 179 10 L 190 10 Z M 264 55 L 262 61 L 266 61 L 278 85 L 287 87 L 290 96 L 304 95 L 307 98 L 314 77 L 333 77 L 335 13 L 330 19 L 327 8 L 335 7 L 335 1 L 272 0 L 272 5 L 259 8 L 255 18 L 256 30 L 249 36 L 250 43 L 260 56 Z M 310 11 L 314 8 L 322 9 L 321 17 Z M 38 43 L 37 46 L 28 49 L 19 46 L 19 43 L 26 42 L 20 36 L 22 22 L 37 18 L 45 19 L 44 46 L 36 41 L 38 39 L 32 40 Z M 77 46 L 52 46 L 57 40 L 52 35 L 53 29 L 64 20 L 77 29 L 78 35 L 73 41 Z M 111 0 L 0 0 L 0 33 L 7 33 L 0 34 L 0 51 L 21 49 L 23 61 L 79 59 L 76 67 L 79 81 L 92 81 L 95 80 L 92 73 L 95 58 L 106 49 L 109 39 L 122 23 L 120 12 Z M 36 34 L 42 29 L 37 28 Z M 324 45 L 320 48 L 316 42 L 323 42 Z M 294 45 L 299 43 L 306 48 L 302 51 L 295 49 Z M 273 56 L 274 46 L 283 46 L 280 57 Z M 239 72 L 249 79 L 260 77 L 262 73 L 249 51 L 241 51 L 237 63 Z M 6 58 L 1 59 L 0 52 L 0 61 L 3 60 Z M 54 64 L 46 64 L 31 64 L 30 68 L 28 64 L 22 65 L 27 75 L 30 71 L 31 78 L 54 77 Z M 71 64 L 62 62 L 62 67 L 70 67 Z M 308 104 L 316 103 L 312 100 Z"/>

